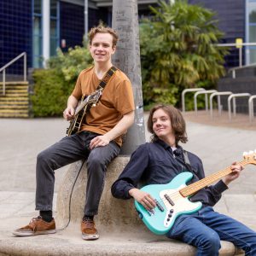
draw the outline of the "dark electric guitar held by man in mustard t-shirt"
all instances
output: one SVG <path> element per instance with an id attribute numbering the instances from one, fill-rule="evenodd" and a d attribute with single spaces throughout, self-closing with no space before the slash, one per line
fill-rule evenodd
<path id="1" fill-rule="evenodd" d="M 95 107 L 96 103 L 99 101 L 101 96 L 102 96 L 102 88 L 99 90 L 96 90 L 89 96 L 82 97 L 78 107 L 75 110 L 74 118 L 70 121 L 70 125 L 67 128 L 67 136 L 71 136 L 79 132 L 88 107 L 89 106 Z"/>

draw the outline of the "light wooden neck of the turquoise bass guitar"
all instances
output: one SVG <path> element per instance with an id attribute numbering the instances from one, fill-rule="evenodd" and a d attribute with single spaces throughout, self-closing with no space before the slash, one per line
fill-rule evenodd
<path id="1" fill-rule="evenodd" d="M 248 162 L 246 160 L 242 160 L 241 162 L 238 162 L 237 166 L 246 166 Z M 224 170 L 221 170 L 219 172 L 213 173 L 212 175 L 202 178 L 201 180 L 190 184 L 189 186 L 180 189 L 179 192 L 184 197 L 187 197 L 189 195 L 195 194 L 200 189 L 203 189 L 207 187 L 207 185 L 214 183 L 215 181 L 221 179 L 222 177 L 230 174 L 232 172 L 231 167 L 227 167 Z"/>

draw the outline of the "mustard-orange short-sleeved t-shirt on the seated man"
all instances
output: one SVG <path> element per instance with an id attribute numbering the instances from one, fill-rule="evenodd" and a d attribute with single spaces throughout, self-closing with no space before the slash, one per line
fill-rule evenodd
<path id="1" fill-rule="evenodd" d="M 100 81 L 96 77 L 94 67 L 84 69 L 79 74 L 72 95 L 80 100 L 82 96 L 88 96 L 93 93 Z M 105 134 L 113 129 L 125 113 L 129 113 L 134 109 L 131 82 L 125 73 L 118 69 L 109 79 L 96 107 L 90 108 L 90 112 L 86 113 L 86 122 L 81 126 L 81 131 Z M 117 137 L 115 142 L 121 146 L 121 137 Z"/>

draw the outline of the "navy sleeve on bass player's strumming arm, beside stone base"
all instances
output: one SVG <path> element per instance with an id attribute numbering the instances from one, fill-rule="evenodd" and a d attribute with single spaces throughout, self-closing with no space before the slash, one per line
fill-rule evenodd
<path id="1" fill-rule="evenodd" d="M 124 171 L 119 178 L 113 183 L 111 193 L 119 199 L 130 199 L 129 190 L 136 188 L 140 182 L 143 173 L 148 167 L 148 150 L 147 143 L 139 146 L 137 150 L 131 154 L 131 159 L 125 166 Z"/>

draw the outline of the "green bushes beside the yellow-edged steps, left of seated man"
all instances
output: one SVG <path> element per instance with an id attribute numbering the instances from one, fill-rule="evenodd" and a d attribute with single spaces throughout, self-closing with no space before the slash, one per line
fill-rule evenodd
<path id="1" fill-rule="evenodd" d="M 33 73 L 33 116 L 62 116 L 79 73 L 91 63 L 90 51 L 85 47 L 76 46 L 65 54 L 58 49 L 57 55 L 48 61 L 49 68 Z"/>

